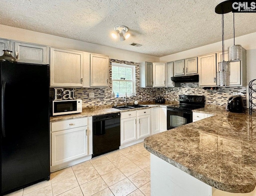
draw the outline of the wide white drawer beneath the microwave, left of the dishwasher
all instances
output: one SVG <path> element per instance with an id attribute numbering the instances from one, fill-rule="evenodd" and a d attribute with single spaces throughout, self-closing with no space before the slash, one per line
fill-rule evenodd
<path id="1" fill-rule="evenodd" d="M 65 129 L 72 129 L 76 127 L 84 127 L 88 124 L 88 118 L 70 119 L 66 121 L 58 121 L 51 123 L 52 132 L 62 131 Z"/>

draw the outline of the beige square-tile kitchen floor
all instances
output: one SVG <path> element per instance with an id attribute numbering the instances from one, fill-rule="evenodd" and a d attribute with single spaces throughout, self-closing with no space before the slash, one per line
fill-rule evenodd
<path id="1" fill-rule="evenodd" d="M 51 173 L 51 180 L 6 196 L 150 196 L 150 153 L 143 142 Z"/>

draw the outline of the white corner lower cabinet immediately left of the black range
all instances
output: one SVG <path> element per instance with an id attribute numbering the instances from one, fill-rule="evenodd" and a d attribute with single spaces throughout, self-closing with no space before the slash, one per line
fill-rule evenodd
<path id="1" fill-rule="evenodd" d="M 151 134 L 160 133 L 167 131 L 167 111 L 166 107 L 155 107 L 152 108 L 152 130 Z"/>

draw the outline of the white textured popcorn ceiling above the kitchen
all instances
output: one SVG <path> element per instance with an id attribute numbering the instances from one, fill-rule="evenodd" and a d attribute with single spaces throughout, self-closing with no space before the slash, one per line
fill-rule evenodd
<path id="1" fill-rule="evenodd" d="M 1 0 L 0 24 L 162 57 L 222 40 L 223 0 Z M 122 24 L 132 36 L 110 34 Z M 225 40 L 233 14 L 224 14 Z M 235 14 L 237 36 L 256 32 L 256 13 Z M 130 46 L 132 42 L 141 47 Z"/>

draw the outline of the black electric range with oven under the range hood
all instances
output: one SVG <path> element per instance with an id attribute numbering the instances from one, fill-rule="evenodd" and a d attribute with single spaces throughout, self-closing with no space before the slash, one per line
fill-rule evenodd
<path id="1" fill-rule="evenodd" d="M 192 123 L 192 110 L 204 107 L 204 96 L 179 95 L 180 104 L 167 106 L 167 129 Z"/>

